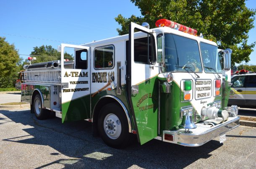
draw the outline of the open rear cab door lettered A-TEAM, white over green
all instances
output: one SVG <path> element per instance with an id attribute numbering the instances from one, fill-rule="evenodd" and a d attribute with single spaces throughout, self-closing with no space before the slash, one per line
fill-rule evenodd
<path id="1" fill-rule="evenodd" d="M 64 61 L 65 53 L 74 56 L 73 64 Z M 89 119 L 90 61 L 89 47 L 61 44 L 62 122 Z"/>

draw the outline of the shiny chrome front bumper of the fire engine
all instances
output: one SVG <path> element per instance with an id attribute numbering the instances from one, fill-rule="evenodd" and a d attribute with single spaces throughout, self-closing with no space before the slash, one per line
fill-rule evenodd
<path id="1" fill-rule="evenodd" d="M 182 146 L 201 146 L 208 141 L 211 141 L 217 136 L 225 134 L 227 131 L 235 129 L 240 126 L 239 124 L 240 117 L 229 117 L 227 121 L 215 126 L 209 127 L 205 125 L 207 122 L 212 122 L 212 120 L 202 121 L 197 123 L 196 129 L 191 129 L 188 133 L 185 132 L 185 129 L 178 129 L 176 131 L 163 131 L 162 141 L 180 144 Z M 173 141 L 165 140 L 165 134 L 171 134 Z"/>

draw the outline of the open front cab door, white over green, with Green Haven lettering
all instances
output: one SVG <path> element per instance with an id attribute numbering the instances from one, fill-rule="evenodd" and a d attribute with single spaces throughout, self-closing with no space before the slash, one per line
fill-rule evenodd
<path id="1" fill-rule="evenodd" d="M 134 33 L 134 30 L 141 32 Z M 126 80 L 128 98 L 138 141 L 141 144 L 157 136 L 158 81 L 155 35 L 152 30 L 131 23 Z"/>

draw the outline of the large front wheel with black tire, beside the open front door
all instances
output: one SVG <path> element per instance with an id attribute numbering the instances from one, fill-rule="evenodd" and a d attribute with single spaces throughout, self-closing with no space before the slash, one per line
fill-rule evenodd
<path id="1" fill-rule="evenodd" d="M 123 109 L 115 103 L 102 107 L 98 118 L 99 135 L 105 144 L 120 149 L 132 142 L 128 121 Z"/>

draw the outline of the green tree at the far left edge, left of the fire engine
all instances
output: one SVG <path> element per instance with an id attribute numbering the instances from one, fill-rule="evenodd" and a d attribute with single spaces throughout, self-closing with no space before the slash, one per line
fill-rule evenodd
<path id="1" fill-rule="evenodd" d="M 4 37 L 0 37 L 0 60 L 0 88 L 13 87 L 13 79 L 18 76 L 17 63 L 21 58 L 15 46 L 5 41 Z"/>

